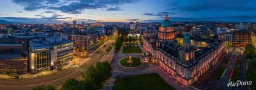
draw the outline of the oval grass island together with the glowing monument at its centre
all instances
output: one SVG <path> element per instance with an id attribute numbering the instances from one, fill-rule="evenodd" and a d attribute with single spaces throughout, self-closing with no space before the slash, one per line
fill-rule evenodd
<path id="1" fill-rule="evenodd" d="M 121 59 L 120 64 L 123 67 L 138 67 L 142 63 L 141 63 L 140 58 L 130 56 L 128 58 Z"/>

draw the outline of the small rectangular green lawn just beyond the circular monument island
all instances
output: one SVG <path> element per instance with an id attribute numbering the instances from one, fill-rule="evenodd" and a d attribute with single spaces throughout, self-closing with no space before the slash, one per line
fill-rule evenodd
<path id="1" fill-rule="evenodd" d="M 123 53 L 142 53 L 139 46 L 124 46 Z"/>

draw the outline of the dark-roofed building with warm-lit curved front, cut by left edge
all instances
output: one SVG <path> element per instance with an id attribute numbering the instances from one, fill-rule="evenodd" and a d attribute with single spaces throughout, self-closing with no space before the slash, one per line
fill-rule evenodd
<path id="1" fill-rule="evenodd" d="M 0 74 L 27 73 L 28 59 L 21 44 L 0 44 Z"/>

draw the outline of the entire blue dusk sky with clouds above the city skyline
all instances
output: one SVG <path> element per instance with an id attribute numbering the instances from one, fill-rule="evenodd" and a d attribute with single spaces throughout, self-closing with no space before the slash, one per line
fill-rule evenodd
<path id="1" fill-rule="evenodd" d="M 10 22 L 255 22 L 255 0 L 1 0 Z"/>

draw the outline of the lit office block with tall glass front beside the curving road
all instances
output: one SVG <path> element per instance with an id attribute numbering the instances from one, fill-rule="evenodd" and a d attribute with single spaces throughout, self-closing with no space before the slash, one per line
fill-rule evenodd
<path id="1" fill-rule="evenodd" d="M 52 36 L 47 37 L 46 40 L 32 40 L 29 45 L 29 68 L 32 73 L 61 68 L 73 59 L 73 42 L 71 40 Z"/>

